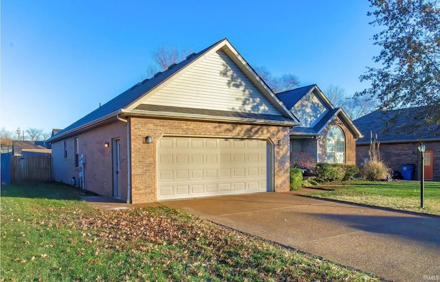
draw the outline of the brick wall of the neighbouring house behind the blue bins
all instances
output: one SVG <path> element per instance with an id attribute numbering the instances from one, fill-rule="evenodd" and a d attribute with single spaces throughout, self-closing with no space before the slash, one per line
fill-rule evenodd
<path id="1" fill-rule="evenodd" d="M 432 150 L 433 179 L 440 180 L 440 141 L 423 142 L 426 150 Z M 381 143 L 380 158 L 384 163 L 393 169 L 394 172 L 401 172 L 401 165 L 415 165 L 412 179 L 419 178 L 419 142 L 411 143 Z M 357 145 L 356 165 L 364 162 L 369 157 L 369 144 Z"/>

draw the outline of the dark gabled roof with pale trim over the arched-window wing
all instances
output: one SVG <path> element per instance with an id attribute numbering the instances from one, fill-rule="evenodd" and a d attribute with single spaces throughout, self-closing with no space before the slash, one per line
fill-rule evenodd
<path id="1" fill-rule="evenodd" d="M 290 130 L 291 135 L 297 136 L 318 136 L 322 130 L 337 116 L 346 124 L 347 128 L 352 132 L 353 137 L 356 139 L 362 137 L 361 131 L 353 124 L 351 119 L 347 116 L 342 108 L 335 108 L 333 104 L 327 99 L 327 97 L 322 93 L 319 89 L 318 85 L 311 84 L 309 86 L 303 86 L 298 89 L 293 89 L 290 91 L 285 91 L 282 93 L 276 94 L 276 96 L 281 99 L 281 101 L 289 108 L 291 111 L 297 110 L 295 108 L 304 97 L 310 95 L 311 93 L 316 93 L 320 102 L 323 104 L 325 108 L 327 108 L 327 113 L 323 114 L 320 117 L 320 120 L 316 122 L 313 127 L 307 126 L 295 126 L 292 130 Z M 307 113 L 308 114 L 308 113 Z"/>

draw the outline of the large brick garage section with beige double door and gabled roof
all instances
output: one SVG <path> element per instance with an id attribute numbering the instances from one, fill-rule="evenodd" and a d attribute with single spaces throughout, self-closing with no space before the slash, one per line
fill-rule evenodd
<path id="1" fill-rule="evenodd" d="M 225 38 L 51 137 L 53 178 L 133 203 L 289 191 L 297 124 Z"/>

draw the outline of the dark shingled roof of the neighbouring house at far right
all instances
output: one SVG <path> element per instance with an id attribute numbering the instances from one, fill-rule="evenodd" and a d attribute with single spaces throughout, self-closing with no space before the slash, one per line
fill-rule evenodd
<path id="1" fill-rule="evenodd" d="M 375 110 L 355 119 L 353 123 L 365 134 L 356 143 L 370 143 L 370 132 L 377 133 L 381 143 L 440 140 L 440 124 L 426 124 L 420 118 L 421 110 L 423 107 Z"/>

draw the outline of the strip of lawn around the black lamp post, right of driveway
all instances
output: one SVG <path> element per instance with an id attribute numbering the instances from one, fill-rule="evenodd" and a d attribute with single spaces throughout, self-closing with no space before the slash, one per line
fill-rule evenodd
<path id="1" fill-rule="evenodd" d="M 419 181 L 347 181 L 333 185 L 322 184 L 318 187 L 328 191 L 308 193 L 304 196 L 440 215 L 439 182 L 425 182 L 424 209 L 420 208 Z"/>

